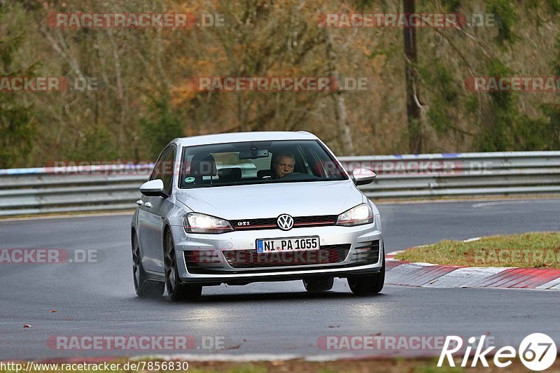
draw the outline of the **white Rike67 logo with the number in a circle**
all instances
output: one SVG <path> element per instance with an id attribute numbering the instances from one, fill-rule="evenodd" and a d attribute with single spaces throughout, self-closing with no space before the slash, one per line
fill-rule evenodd
<path id="1" fill-rule="evenodd" d="M 496 346 L 490 346 L 482 351 L 487 346 L 484 345 L 484 339 L 484 335 L 479 339 L 470 337 L 468 339 L 469 345 L 463 349 L 463 339 L 461 337 L 447 336 L 440 354 L 440 360 L 437 361 L 437 367 L 442 367 L 446 358 L 449 366 L 454 367 L 453 354 L 458 351 L 461 351 L 461 353 L 464 351 L 461 367 L 466 367 L 473 347 L 475 352 L 472 354 L 471 367 L 476 367 L 479 362 L 483 367 L 489 367 L 486 355 L 491 355 L 491 353 L 493 353 L 493 363 L 496 367 L 503 368 L 512 364 L 512 360 L 517 355 L 517 351 L 512 346 L 503 346 L 495 352 L 493 350 L 496 349 Z M 552 338 L 542 333 L 528 335 L 519 344 L 519 359 L 530 370 L 542 371 L 548 369 L 556 360 L 556 344 L 554 344 Z"/>

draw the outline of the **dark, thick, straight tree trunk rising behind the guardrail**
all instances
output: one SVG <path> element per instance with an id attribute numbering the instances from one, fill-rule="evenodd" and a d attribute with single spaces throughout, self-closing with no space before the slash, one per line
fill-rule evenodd
<path id="1" fill-rule="evenodd" d="M 403 0 L 403 13 L 416 13 L 416 0 Z M 412 154 L 422 152 L 421 104 L 416 84 L 416 63 L 418 50 L 416 46 L 416 27 L 405 27 L 406 87 L 407 87 L 407 121 L 408 147 Z"/>

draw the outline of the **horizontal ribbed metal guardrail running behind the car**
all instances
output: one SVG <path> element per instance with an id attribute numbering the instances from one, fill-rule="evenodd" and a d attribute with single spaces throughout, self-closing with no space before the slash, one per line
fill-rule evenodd
<path id="1" fill-rule="evenodd" d="M 339 157 L 372 199 L 560 195 L 560 151 Z M 0 216 L 134 209 L 151 165 L 0 169 Z"/>

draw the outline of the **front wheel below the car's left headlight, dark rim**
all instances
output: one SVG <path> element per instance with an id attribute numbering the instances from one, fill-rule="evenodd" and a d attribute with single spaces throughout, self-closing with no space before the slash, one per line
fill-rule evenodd
<path id="1" fill-rule="evenodd" d="M 179 279 L 179 271 L 177 270 L 177 258 L 175 255 L 175 246 L 173 244 L 173 236 L 171 232 L 167 232 L 165 237 L 165 286 L 167 286 L 167 294 L 176 302 L 181 300 L 195 300 L 202 294 L 202 286 L 188 285 L 182 283 Z"/>

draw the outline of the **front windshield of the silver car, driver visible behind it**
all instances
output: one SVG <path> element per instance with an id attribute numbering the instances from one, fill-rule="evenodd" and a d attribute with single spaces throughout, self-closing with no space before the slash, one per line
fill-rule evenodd
<path id="1" fill-rule="evenodd" d="M 251 141 L 183 147 L 179 188 L 347 178 L 316 140 Z"/>

